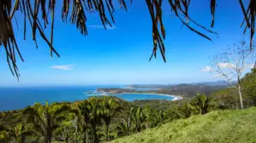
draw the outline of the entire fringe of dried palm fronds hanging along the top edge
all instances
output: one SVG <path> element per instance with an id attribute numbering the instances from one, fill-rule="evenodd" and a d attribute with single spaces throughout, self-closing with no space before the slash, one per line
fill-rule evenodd
<path id="1" fill-rule="evenodd" d="M 100 18 L 104 28 L 106 29 L 106 26 L 112 26 L 112 23 L 115 22 L 113 13 L 116 7 L 114 6 L 114 4 L 116 4 L 117 2 L 122 9 L 127 10 L 127 1 L 63 0 L 62 20 L 63 22 L 70 22 L 71 24 L 74 24 L 82 35 L 87 35 L 88 32 L 86 29 L 86 14 L 98 13 L 98 17 Z M 208 28 L 205 28 L 205 26 L 199 25 L 199 23 L 197 23 L 190 17 L 188 12 L 190 2 L 191 0 L 168 0 L 171 10 L 176 14 L 176 17 L 182 21 L 182 24 L 184 26 L 187 26 L 189 30 L 199 34 L 199 36 L 211 40 L 211 37 L 209 37 L 208 34 L 217 33 L 211 31 Z M 244 20 L 242 21 L 241 26 L 245 27 L 244 32 L 246 32 L 247 29 L 251 30 L 250 41 L 252 45 L 253 34 L 255 31 L 254 16 L 256 14 L 256 1 L 250 0 L 247 9 L 245 8 L 241 0 L 239 0 L 239 2 L 241 4 L 242 13 L 244 14 Z M 53 45 L 55 10 L 57 6 L 56 3 L 56 0 L 0 0 L 0 46 L 3 45 L 3 48 L 5 49 L 7 62 L 9 64 L 9 69 L 11 73 L 18 79 L 20 75 L 18 66 L 16 65 L 16 56 L 19 56 L 22 61 L 24 60 L 21 56 L 18 43 L 16 42 L 15 31 L 13 28 L 14 22 L 17 26 L 19 26 L 20 23 L 15 20 L 15 14 L 18 11 L 23 14 L 24 40 L 26 40 L 27 28 L 30 28 L 32 30 L 32 39 L 35 42 L 35 46 L 38 47 L 37 35 L 39 35 L 43 38 L 45 43 L 48 44 L 51 56 L 53 56 L 53 54 L 56 54 L 59 57 L 60 55 L 57 53 Z M 132 3 L 132 0 L 130 1 L 130 3 Z M 155 58 L 157 57 L 157 50 L 159 49 L 165 62 L 165 28 L 164 22 L 162 20 L 162 4 L 163 0 L 146 0 L 146 5 L 152 19 L 153 49 L 150 60 L 153 56 Z M 216 0 L 211 0 L 211 27 L 214 26 L 215 22 L 214 15 L 216 5 Z M 51 28 L 51 35 L 49 37 L 45 34 L 45 29 L 47 29 L 48 26 L 50 26 Z M 197 30 L 198 28 L 199 30 Z M 203 31 L 207 32 L 208 34 L 205 34 Z"/>

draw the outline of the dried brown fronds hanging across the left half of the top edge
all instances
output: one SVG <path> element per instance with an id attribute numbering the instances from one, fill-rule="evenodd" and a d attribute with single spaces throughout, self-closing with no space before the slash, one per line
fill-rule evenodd
<path id="1" fill-rule="evenodd" d="M 120 6 L 127 10 L 124 0 L 119 0 Z M 29 28 L 32 29 L 32 39 L 37 44 L 37 32 L 43 38 L 50 48 L 50 54 L 60 56 L 53 46 L 54 20 L 55 20 L 56 0 L 0 0 L 0 45 L 4 47 L 7 55 L 9 69 L 15 77 L 20 77 L 16 65 L 15 53 L 21 56 L 18 44 L 16 43 L 13 29 L 13 18 L 15 13 L 20 11 L 24 15 L 24 40 L 27 34 L 27 20 Z M 86 11 L 88 13 L 98 12 L 102 24 L 112 26 L 106 12 L 110 14 L 110 19 L 115 22 L 113 12 L 115 11 L 112 0 L 63 0 L 62 19 L 71 24 L 75 24 L 82 35 L 87 35 L 86 29 Z M 48 13 L 51 16 L 48 16 Z M 40 15 L 39 15 L 40 14 Z M 49 25 L 51 18 L 51 35 L 45 35 L 45 29 Z M 42 23 L 41 23 L 42 21 Z"/>

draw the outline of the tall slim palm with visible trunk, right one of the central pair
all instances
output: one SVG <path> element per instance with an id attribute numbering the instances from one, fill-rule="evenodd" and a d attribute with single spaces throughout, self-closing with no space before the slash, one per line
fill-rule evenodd
<path id="1" fill-rule="evenodd" d="M 115 100 L 111 97 L 104 97 L 104 100 L 102 102 L 102 119 L 105 123 L 105 135 L 106 135 L 106 141 L 109 140 L 109 128 L 112 117 L 115 116 L 116 110 L 119 108 L 118 104 Z"/>

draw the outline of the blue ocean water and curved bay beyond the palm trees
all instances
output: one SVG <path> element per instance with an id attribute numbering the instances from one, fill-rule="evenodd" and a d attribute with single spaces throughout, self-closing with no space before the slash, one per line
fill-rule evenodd
<path id="1" fill-rule="evenodd" d="M 124 86 L 123 86 L 124 87 Z M 94 95 L 105 95 L 97 93 L 98 88 L 122 88 L 122 86 L 84 86 L 84 87 L 40 87 L 40 88 L 0 88 L 0 111 L 22 109 L 32 106 L 34 102 L 44 104 L 48 102 L 74 102 L 85 100 Z M 94 94 L 85 94 L 88 91 Z M 159 94 L 110 94 L 123 100 L 173 100 L 174 98 Z"/>

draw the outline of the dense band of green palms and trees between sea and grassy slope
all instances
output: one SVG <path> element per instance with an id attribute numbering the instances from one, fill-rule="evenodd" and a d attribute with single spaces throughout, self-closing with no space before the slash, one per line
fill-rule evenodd
<path id="1" fill-rule="evenodd" d="M 219 93 L 226 93 L 226 91 L 228 89 L 215 93 L 216 96 L 212 95 L 214 100 L 223 101 L 223 96 Z M 221 98 L 217 100 L 218 97 Z M 218 107 L 223 104 L 219 102 L 217 102 Z M 224 103 L 225 106 L 231 105 L 228 99 L 224 100 Z M 25 110 L 1 112 L 0 142 L 26 140 L 26 142 L 45 143 L 51 141 L 96 143 L 109 141 L 135 133 L 140 134 L 145 129 L 159 129 L 164 123 L 176 123 L 188 117 L 194 118 L 198 114 L 211 112 L 215 109 L 214 107 L 215 102 L 212 97 L 205 94 L 198 94 L 191 100 L 177 101 L 128 102 L 116 97 L 92 97 L 75 103 L 48 105 L 46 102 L 45 106 L 36 103 Z M 4 127 L 1 124 L 4 124 Z M 16 124 L 19 125 L 15 126 Z M 182 125 L 188 126 L 188 123 Z M 171 128 L 174 129 L 170 136 L 177 132 L 175 129 L 182 127 Z M 18 129 L 19 134 L 10 135 L 10 129 Z M 26 132 L 30 134 L 25 134 Z M 152 140 L 152 142 L 155 141 Z"/>

